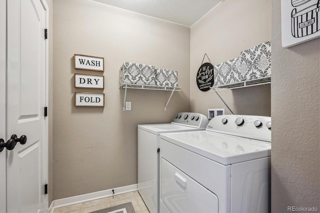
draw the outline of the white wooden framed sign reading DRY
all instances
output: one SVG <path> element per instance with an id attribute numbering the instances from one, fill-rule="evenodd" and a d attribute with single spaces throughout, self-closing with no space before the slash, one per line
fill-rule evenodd
<path id="1" fill-rule="evenodd" d="M 74 74 L 75 88 L 104 88 L 104 76 L 93 74 Z"/>

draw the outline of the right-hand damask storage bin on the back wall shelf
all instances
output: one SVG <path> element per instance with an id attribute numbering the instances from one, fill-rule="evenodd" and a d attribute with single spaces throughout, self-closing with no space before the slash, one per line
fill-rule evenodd
<path id="1" fill-rule="evenodd" d="M 178 72 L 169 69 L 156 69 L 155 85 L 157 86 L 178 86 Z"/>

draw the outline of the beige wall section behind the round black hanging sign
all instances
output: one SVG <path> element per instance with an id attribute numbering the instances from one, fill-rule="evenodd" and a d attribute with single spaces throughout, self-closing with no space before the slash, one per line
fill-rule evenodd
<path id="1" fill-rule="evenodd" d="M 225 108 L 230 114 L 215 93 L 200 91 L 196 85 L 204 53 L 212 64 L 218 64 L 270 39 L 270 0 L 224 0 L 195 23 L 190 30 L 190 110 L 207 115 L 208 108 Z M 235 114 L 270 116 L 270 85 L 223 90 L 219 94 Z"/>

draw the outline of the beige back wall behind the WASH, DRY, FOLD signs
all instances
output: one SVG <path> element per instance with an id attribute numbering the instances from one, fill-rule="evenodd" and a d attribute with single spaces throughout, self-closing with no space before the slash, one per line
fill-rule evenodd
<path id="1" fill-rule="evenodd" d="M 53 199 L 137 183 L 137 124 L 189 111 L 189 28 L 88 0 L 53 1 Z M 75 107 L 74 53 L 103 56 L 105 107 Z M 178 70 L 181 92 L 129 89 L 124 61 Z"/>

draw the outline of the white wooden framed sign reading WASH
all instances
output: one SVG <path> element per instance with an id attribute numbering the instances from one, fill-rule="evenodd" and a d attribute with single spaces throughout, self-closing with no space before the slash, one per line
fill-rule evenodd
<path id="1" fill-rule="evenodd" d="M 74 68 L 104 71 L 104 57 L 74 54 Z"/>

